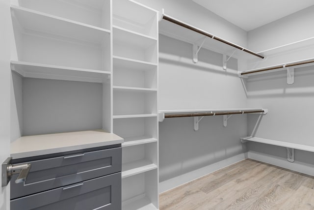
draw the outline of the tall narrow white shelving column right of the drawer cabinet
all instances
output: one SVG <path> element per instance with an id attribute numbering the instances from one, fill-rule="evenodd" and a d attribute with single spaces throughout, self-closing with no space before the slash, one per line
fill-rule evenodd
<path id="1" fill-rule="evenodd" d="M 122 208 L 156 210 L 157 11 L 129 0 L 114 0 L 112 17 L 113 132 L 125 139 Z"/>

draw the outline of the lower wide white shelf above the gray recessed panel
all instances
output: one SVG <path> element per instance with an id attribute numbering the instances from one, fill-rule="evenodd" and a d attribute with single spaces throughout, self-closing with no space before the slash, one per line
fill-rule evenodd
<path id="1" fill-rule="evenodd" d="M 11 70 L 16 71 L 23 77 L 95 83 L 104 83 L 106 75 L 110 75 L 109 71 L 72 68 L 16 60 L 11 61 Z"/>

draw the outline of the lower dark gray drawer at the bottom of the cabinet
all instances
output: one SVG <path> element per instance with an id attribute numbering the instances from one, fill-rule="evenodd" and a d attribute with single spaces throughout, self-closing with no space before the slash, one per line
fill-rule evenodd
<path id="1" fill-rule="evenodd" d="M 11 200 L 11 210 L 121 210 L 121 173 Z"/>

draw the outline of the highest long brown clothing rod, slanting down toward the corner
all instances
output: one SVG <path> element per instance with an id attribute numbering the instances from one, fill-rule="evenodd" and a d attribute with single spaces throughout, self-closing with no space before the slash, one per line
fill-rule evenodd
<path id="1" fill-rule="evenodd" d="M 214 35 L 212 35 L 212 34 L 210 34 L 210 33 L 208 33 L 208 32 L 205 32 L 205 31 L 203 31 L 203 30 L 199 30 L 199 29 L 196 29 L 196 28 L 194 28 L 194 27 L 192 27 L 192 26 L 190 26 L 190 25 L 184 24 L 184 23 L 182 23 L 182 22 L 180 22 L 180 21 L 178 21 L 178 20 L 175 20 L 175 19 L 173 19 L 173 18 L 171 18 L 171 17 L 169 17 L 169 16 L 166 16 L 165 14 L 163 15 L 162 19 L 164 19 L 164 20 L 166 20 L 166 21 L 169 21 L 169 22 L 171 22 L 171 23 L 177 24 L 177 25 L 179 25 L 179 26 L 182 26 L 182 27 L 184 27 L 184 28 L 186 28 L 186 29 L 193 30 L 193 31 L 195 31 L 195 32 L 197 32 L 197 33 L 200 33 L 200 34 L 204 35 L 204 36 L 208 36 L 209 38 L 213 38 L 213 39 L 215 39 L 215 40 L 217 40 L 217 41 L 220 41 L 220 42 L 222 42 L 222 43 L 225 43 L 225 44 L 227 44 L 227 45 L 230 45 L 230 46 L 232 46 L 232 47 L 235 47 L 235 48 L 237 48 L 237 49 L 239 49 L 239 50 L 242 50 L 242 51 L 244 51 L 244 52 L 246 52 L 246 53 L 249 53 L 249 54 L 251 54 L 251 55 L 253 55 L 253 56 L 257 56 L 257 57 L 259 57 L 259 58 L 261 58 L 261 59 L 264 59 L 263 56 L 261 56 L 261 55 L 259 55 L 259 54 L 257 54 L 257 53 L 254 53 L 254 52 L 252 52 L 252 51 L 250 51 L 250 50 L 247 50 L 247 49 L 245 49 L 245 48 L 243 48 L 243 47 L 240 47 L 240 46 L 238 46 L 238 45 L 235 45 L 235 44 L 233 44 L 233 43 L 231 43 L 231 42 L 229 42 L 229 41 L 227 41 L 227 40 L 224 40 L 224 39 L 221 39 L 221 38 L 219 38 L 219 37 L 216 37 L 216 36 L 214 36 Z"/>

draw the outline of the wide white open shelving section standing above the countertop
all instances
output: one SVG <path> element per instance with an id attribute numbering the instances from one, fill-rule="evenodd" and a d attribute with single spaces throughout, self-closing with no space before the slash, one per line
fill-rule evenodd
<path id="1" fill-rule="evenodd" d="M 90 129 L 112 132 L 111 0 L 17 4 L 11 6 L 16 49 L 11 69 L 22 76 L 13 81 L 20 107 L 16 130 L 22 136 Z M 58 104 L 52 106 L 53 101 Z M 66 124 L 60 130 L 62 123 Z"/>

